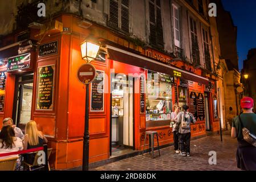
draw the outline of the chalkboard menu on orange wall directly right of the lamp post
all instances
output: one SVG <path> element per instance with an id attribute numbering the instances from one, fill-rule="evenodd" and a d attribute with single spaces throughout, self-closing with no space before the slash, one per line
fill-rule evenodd
<path id="1" fill-rule="evenodd" d="M 91 83 L 91 111 L 104 111 L 104 71 L 96 71 Z"/>

